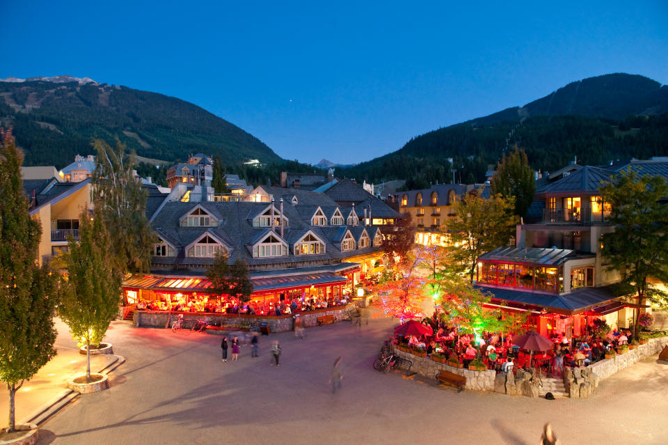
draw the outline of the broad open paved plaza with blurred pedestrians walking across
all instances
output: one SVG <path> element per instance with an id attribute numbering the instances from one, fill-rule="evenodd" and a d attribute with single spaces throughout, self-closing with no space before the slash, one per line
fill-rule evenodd
<path id="1" fill-rule="evenodd" d="M 260 337 L 221 363 L 220 336 L 113 322 L 125 364 L 111 389 L 77 398 L 42 426 L 39 444 L 536 444 L 546 421 L 562 444 L 668 443 L 668 366 L 647 360 L 591 398 L 545 400 L 438 387 L 372 368 L 390 320 Z M 280 341 L 281 366 L 269 366 Z M 328 376 L 343 357 L 342 389 Z M 22 396 L 22 399 L 24 396 Z M 22 400 L 19 400 L 21 403 Z"/>

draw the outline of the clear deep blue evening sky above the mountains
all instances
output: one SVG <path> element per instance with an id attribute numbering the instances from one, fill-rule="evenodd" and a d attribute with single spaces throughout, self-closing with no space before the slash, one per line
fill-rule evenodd
<path id="1" fill-rule="evenodd" d="M 667 1 L 2 3 L 0 77 L 173 95 L 301 162 L 372 159 L 584 77 L 668 83 Z"/>

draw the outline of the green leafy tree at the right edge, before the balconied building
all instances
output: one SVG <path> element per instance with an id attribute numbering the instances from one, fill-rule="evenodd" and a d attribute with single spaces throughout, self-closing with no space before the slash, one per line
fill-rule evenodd
<path id="1" fill-rule="evenodd" d="M 633 286 L 639 304 L 646 299 L 665 302 L 665 292 L 649 278 L 668 281 L 668 185 L 660 176 L 627 169 L 603 187 L 601 198 L 610 205 L 606 218 L 614 232 L 603 235 L 603 255 L 610 269 L 622 272 L 622 283 Z M 634 338 L 638 338 L 640 311 L 635 310 Z"/>

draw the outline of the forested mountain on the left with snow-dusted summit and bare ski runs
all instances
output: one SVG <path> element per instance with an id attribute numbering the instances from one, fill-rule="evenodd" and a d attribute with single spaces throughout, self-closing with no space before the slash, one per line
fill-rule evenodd
<path id="1" fill-rule="evenodd" d="M 283 162 L 252 134 L 194 104 L 88 77 L 0 80 L 0 124 L 13 126 L 25 165 L 62 168 L 77 153 L 93 153 L 93 138 L 118 138 L 154 164 L 193 153 L 221 155 L 229 166 Z"/>

